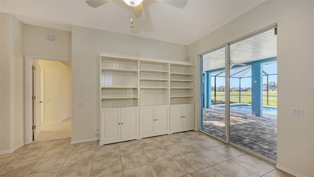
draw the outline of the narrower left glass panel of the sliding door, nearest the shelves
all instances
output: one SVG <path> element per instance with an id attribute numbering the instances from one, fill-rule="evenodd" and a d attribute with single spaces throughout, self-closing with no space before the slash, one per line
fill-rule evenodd
<path id="1" fill-rule="evenodd" d="M 225 140 L 225 47 L 202 55 L 201 130 Z"/>

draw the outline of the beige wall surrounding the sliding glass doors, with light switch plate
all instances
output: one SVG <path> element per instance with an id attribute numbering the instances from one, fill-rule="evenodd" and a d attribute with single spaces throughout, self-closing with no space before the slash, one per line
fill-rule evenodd
<path id="1" fill-rule="evenodd" d="M 314 1 L 266 1 L 188 46 L 198 54 L 278 23 L 278 163 L 285 171 L 314 177 Z M 199 77 L 195 96 L 199 103 Z M 199 110 L 199 104 L 196 105 Z M 303 108 L 304 117 L 290 115 Z M 199 111 L 196 112 L 196 121 Z"/>

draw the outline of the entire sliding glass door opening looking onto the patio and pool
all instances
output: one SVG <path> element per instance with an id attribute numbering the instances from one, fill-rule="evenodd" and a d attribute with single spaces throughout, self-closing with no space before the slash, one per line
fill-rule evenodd
<path id="1" fill-rule="evenodd" d="M 275 28 L 201 55 L 200 129 L 272 163 L 277 161 Z"/>

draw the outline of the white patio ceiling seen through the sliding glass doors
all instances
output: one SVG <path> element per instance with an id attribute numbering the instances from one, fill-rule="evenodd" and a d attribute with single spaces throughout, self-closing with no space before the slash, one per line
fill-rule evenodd
<path id="1" fill-rule="evenodd" d="M 230 57 L 235 64 L 277 57 L 277 35 L 274 35 L 274 28 L 231 44 Z M 203 55 L 203 71 L 224 67 L 225 47 Z"/>

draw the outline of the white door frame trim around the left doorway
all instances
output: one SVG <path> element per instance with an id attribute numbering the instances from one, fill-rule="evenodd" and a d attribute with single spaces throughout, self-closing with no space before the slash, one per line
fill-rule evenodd
<path id="1" fill-rule="evenodd" d="M 51 60 L 61 62 L 72 62 L 71 58 L 60 58 L 51 56 L 40 56 L 40 55 L 25 55 L 25 144 L 33 142 L 32 139 L 32 70 L 31 60 Z"/>

